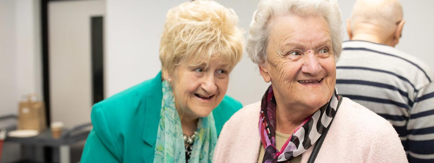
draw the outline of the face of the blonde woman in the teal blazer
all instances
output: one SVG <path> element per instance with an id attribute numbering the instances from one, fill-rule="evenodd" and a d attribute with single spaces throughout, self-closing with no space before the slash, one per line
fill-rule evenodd
<path id="1" fill-rule="evenodd" d="M 226 94 L 229 72 L 230 65 L 217 58 L 199 66 L 181 61 L 174 72 L 165 73 L 171 78 L 175 106 L 181 118 L 208 116 Z"/>

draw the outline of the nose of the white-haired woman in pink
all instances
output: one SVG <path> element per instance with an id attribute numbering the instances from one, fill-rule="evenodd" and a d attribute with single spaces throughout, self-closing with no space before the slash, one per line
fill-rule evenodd
<path id="1" fill-rule="evenodd" d="M 321 70 L 322 67 L 319 64 L 319 58 L 315 55 L 313 50 L 309 50 L 308 53 L 305 54 L 301 71 L 311 76 L 316 76 L 321 72 Z"/>

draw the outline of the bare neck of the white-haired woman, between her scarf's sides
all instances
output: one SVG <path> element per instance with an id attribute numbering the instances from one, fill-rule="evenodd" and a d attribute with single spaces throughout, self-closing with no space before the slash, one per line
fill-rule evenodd
<path id="1" fill-rule="evenodd" d="M 276 107 L 276 131 L 292 134 L 316 110 L 318 109 Z"/>

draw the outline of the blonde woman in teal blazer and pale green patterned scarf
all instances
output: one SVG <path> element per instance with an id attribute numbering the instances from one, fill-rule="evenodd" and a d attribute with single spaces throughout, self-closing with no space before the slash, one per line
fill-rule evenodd
<path id="1" fill-rule="evenodd" d="M 225 96 L 243 53 L 237 23 L 211 0 L 169 10 L 161 73 L 93 106 L 81 162 L 211 162 L 223 124 L 242 107 Z"/>

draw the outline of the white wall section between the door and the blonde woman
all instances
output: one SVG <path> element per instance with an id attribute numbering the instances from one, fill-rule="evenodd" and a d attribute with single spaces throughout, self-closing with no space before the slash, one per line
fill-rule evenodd
<path id="1" fill-rule="evenodd" d="M 166 12 L 184 1 L 106 1 L 106 97 L 157 75 Z"/>

